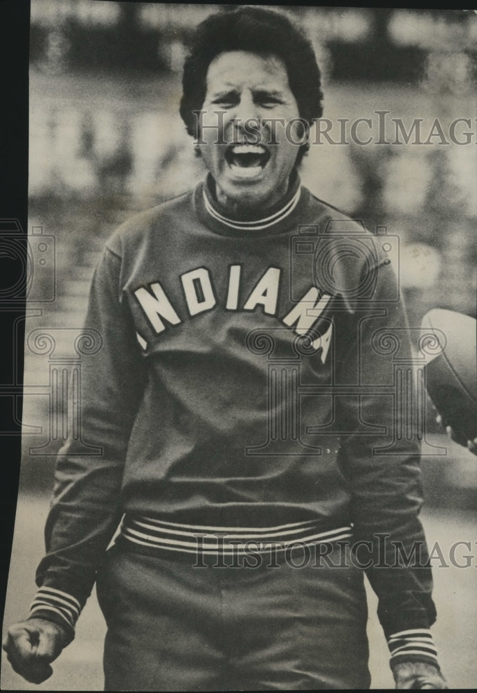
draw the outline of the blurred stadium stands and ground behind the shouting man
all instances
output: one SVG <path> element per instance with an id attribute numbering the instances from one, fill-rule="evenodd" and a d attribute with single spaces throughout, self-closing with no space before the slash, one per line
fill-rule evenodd
<path id="1" fill-rule="evenodd" d="M 178 115 L 180 75 L 184 42 L 217 7 L 32 0 L 28 227 L 54 236 L 55 255 L 35 275 L 26 335 L 38 328 L 54 333 L 54 358 L 68 349 L 67 331 L 62 343 L 58 328 L 82 325 L 104 240 L 134 211 L 185 191 L 203 175 Z M 316 47 L 325 118 L 376 123 L 381 110 L 388 119 L 402 119 L 406 130 L 422 119 L 423 139 L 436 118 L 444 132 L 457 118 L 473 119 L 469 130 L 476 132 L 473 12 L 283 9 L 303 21 Z M 338 130 L 330 134 L 336 140 Z M 393 135 L 390 128 L 390 141 Z M 442 145 L 438 137 L 428 146 L 334 146 L 322 138 L 303 164 L 303 180 L 318 197 L 361 218 L 371 231 L 385 225 L 399 236 L 411 326 L 436 306 L 476 316 L 476 140 L 465 146 Z M 48 301 L 51 286 L 55 296 Z M 51 415 L 52 353 L 33 353 L 27 344 L 25 357 L 25 444 L 6 623 L 24 615 L 42 554 L 55 458 L 38 448 L 48 443 L 48 452 L 57 450 L 67 418 L 61 403 Z M 476 458 L 440 432 L 431 407 L 427 441 L 436 454 L 423 458 L 424 524 L 430 545 L 439 541 L 445 554 L 456 541 L 474 541 Z M 435 569 L 439 620 L 433 631 L 452 687 L 475 685 L 476 563 Z M 372 687 L 390 687 L 374 611 L 370 595 Z M 75 642 L 39 690 L 100 689 L 104 630 L 93 597 Z M 8 665 L 2 679 L 4 689 L 36 688 Z"/>

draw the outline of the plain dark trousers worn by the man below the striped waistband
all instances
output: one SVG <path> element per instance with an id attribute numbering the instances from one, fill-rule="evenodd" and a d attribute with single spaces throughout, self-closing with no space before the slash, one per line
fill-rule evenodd
<path id="1" fill-rule="evenodd" d="M 327 559 L 343 563 L 342 550 Z M 108 627 L 105 690 L 369 687 L 358 568 L 314 559 L 301 568 L 194 561 L 109 550 L 97 583 Z M 294 561 L 304 562 L 303 554 Z"/>

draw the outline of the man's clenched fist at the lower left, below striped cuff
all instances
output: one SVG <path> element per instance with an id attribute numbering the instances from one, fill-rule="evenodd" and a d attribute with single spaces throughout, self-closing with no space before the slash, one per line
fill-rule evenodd
<path id="1" fill-rule="evenodd" d="M 70 640 L 61 626 L 43 618 L 31 618 L 10 626 L 3 649 L 17 674 L 30 683 L 42 683 L 53 674 L 50 663 Z"/>

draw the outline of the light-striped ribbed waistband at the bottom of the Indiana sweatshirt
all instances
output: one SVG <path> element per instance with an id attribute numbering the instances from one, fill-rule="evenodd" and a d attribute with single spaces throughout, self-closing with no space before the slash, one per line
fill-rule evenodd
<path id="1" fill-rule="evenodd" d="M 182 525 L 157 518 L 125 515 L 121 536 L 131 546 L 182 554 L 246 555 L 247 552 L 292 550 L 294 547 L 346 539 L 352 527 L 319 529 L 316 520 L 275 527 Z"/>

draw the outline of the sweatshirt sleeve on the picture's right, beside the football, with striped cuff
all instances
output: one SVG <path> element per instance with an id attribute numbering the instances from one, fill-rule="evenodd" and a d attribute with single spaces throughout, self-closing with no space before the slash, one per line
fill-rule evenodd
<path id="1" fill-rule="evenodd" d="M 395 274 L 384 264 L 378 272 L 372 301 L 355 302 L 348 318 L 352 337 L 338 357 L 346 390 L 337 398 L 346 431 L 339 460 L 352 499 L 355 558 L 379 599 L 390 663 L 437 664 L 429 631 L 435 621 L 431 568 L 419 519 L 416 362 Z"/>

